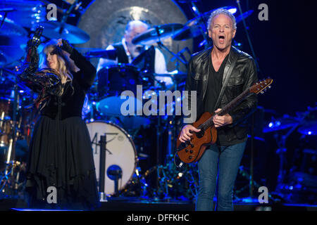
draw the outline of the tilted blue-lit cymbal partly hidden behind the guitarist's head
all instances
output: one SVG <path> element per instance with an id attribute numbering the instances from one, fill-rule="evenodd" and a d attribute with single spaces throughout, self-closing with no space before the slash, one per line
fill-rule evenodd
<path id="1" fill-rule="evenodd" d="M 230 6 L 225 6 L 225 7 L 221 7 L 221 8 L 231 8 Z M 192 20 L 189 20 L 187 23 L 185 23 L 184 27 L 182 28 L 182 30 L 180 30 L 179 32 L 177 32 L 176 34 L 173 35 L 173 39 L 175 41 L 184 41 L 186 39 L 190 39 L 193 37 L 198 37 L 199 35 L 201 35 L 201 30 L 203 32 L 207 32 L 207 21 L 209 19 L 209 16 L 211 15 L 211 13 L 213 11 L 216 11 L 218 8 L 213 9 L 211 11 L 208 11 L 206 13 L 202 13 L 198 18 L 194 18 Z M 253 13 L 252 10 L 247 11 L 245 13 L 243 13 L 240 16 L 237 16 L 236 23 L 239 23 L 242 20 L 242 16 L 243 18 L 247 18 L 249 15 L 251 15 Z"/>

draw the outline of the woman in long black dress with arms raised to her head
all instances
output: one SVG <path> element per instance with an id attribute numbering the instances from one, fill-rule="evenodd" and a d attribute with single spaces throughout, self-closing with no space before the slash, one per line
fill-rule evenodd
<path id="1" fill-rule="evenodd" d="M 38 46 L 34 39 L 27 43 L 27 60 L 19 74 L 22 82 L 39 93 L 35 105 L 40 117 L 27 160 L 30 207 L 93 210 L 99 206 L 97 180 L 81 115 L 96 69 L 68 41 L 59 39 L 46 44 L 44 68 L 39 70 Z M 56 203 L 51 195 L 54 188 Z"/>

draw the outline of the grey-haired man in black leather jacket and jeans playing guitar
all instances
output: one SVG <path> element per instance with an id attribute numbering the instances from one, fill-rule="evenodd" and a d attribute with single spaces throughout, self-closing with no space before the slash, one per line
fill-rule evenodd
<path id="1" fill-rule="evenodd" d="M 225 9 L 218 9 L 211 13 L 208 27 L 213 47 L 192 56 L 186 82 L 189 93 L 197 91 L 197 117 L 206 111 L 218 113 L 258 80 L 253 58 L 231 46 L 237 29 L 235 17 Z M 191 105 L 190 95 L 188 101 Z M 257 97 L 252 94 L 228 114 L 213 118 L 218 136 L 216 143 L 206 149 L 198 162 L 196 210 L 213 210 L 217 174 L 217 210 L 233 210 L 233 186 L 247 142 L 246 118 L 256 104 Z M 186 124 L 180 141 L 188 141 L 192 132 L 198 131 L 191 124 Z"/>

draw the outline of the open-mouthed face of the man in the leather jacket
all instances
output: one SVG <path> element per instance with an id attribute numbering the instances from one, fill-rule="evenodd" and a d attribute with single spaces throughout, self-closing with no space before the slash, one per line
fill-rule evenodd
<path id="1" fill-rule="evenodd" d="M 230 48 L 236 30 L 233 29 L 232 20 L 228 15 L 219 14 L 211 21 L 208 32 L 209 37 L 213 40 L 213 45 L 223 51 Z"/>

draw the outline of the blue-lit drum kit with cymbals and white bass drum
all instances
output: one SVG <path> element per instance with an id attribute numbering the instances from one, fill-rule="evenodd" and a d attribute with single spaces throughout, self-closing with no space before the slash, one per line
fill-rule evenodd
<path id="1" fill-rule="evenodd" d="M 58 8 L 58 11 L 63 13 L 61 22 L 46 21 L 45 18 L 45 1 L 6 1 L 0 8 L 0 79 L 1 79 L 1 98 L 0 98 L 0 154 L 1 154 L 1 193 L 7 194 L 10 192 L 17 193 L 23 191 L 23 181 L 20 174 L 25 172 L 25 158 L 27 155 L 27 145 L 30 141 L 32 128 L 35 124 L 36 115 L 38 112 L 32 105 L 32 96 L 34 95 L 22 84 L 19 84 L 15 71 L 23 61 L 28 39 L 27 30 L 35 30 L 37 25 L 44 27 L 42 42 L 49 39 L 68 39 L 71 44 L 82 44 L 87 42 L 89 35 L 80 30 L 80 28 L 66 23 L 70 13 L 74 10 L 77 1 L 73 1 L 68 8 L 68 11 L 63 11 Z M 68 1 L 67 1 L 68 2 Z M 75 2 L 75 3 L 74 3 Z M 188 1 L 189 3 L 190 1 Z M 190 2 L 194 6 L 194 2 Z M 192 7 L 191 7 L 192 8 Z M 228 7 L 223 7 L 228 8 Z M 192 39 L 202 35 L 204 43 L 201 45 L 207 46 L 209 39 L 207 37 L 206 22 L 211 11 L 199 13 L 193 11 L 195 18 L 189 20 L 185 25 L 182 24 L 166 24 L 156 25 L 146 32 L 139 34 L 132 42 L 134 44 L 151 45 L 157 44 L 160 49 L 166 50 L 178 62 L 187 65 L 187 60 L 183 56 L 183 52 L 173 53 L 162 43 L 163 39 L 173 38 L 176 41 Z M 246 18 L 252 13 L 248 11 L 242 16 Z M 242 16 L 237 18 L 237 23 L 242 20 Z M 20 18 L 23 18 L 20 19 Z M 26 29 L 27 30 L 26 30 Z M 147 51 L 151 51 L 149 48 Z M 80 49 L 86 58 L 116 58 L 116 51 L 102 49 Z M 140 54 L 138 58 L 129 64 L 112 65 L 99 70 L 98 80 L 92 86 L 86 102 L 89 108 L 83 109 L 83 118 L 89 120 L 87 127 L 92 140 L 92 150 L 94 153 L 94 164 L 97 172 L 99 184 L 103 183 L 106 195 L 118 195 L 118 193 L 128 193 L 130 188 L 128 184 L 139 185 L 139 193 L 163 193 L 164 197 L 168 197 L 168 190 L 173 188 L 173 193 L 177 195 L 185 195 L 187 198 L 193 198 L 193 194 L 197 193 L 197 174 L 193 174 L 194 165 L 188 165 L 183 172 L 177 172 L 173 165 L 173 160 L 170 155 L 173 155 L 175 149 L 175 138 L 180 129 L 180 122 L 177 118 L 172 117 L 142 117 L 128 116 L 123 117 L 120 113 L 120 93 L 125 90 L 135 91 L 136 85 L 141 84 L 144 89 L 151 89 L 159 92 L 160 90 L 180 90 L 184 89 L 186 74 L 178 72 L 170 72 L 160 77 L 171 77 L 173 85 L 168 86 L 163 82 L 156 80 L 156 74 L 147 68 L 147 63 L 144 63 L 144 58 L 147 58 L 147 51 Z M 143 62 L 143 64 L 142 64 Z M 141 66 L 140 66 L 141 65 Z M 167 105 L 166 105 L 167 106 Z M 156 155 L 152 152 L 142 152 L 145 140 L 144 136 L 139 135 L 139 131 L 144 127 L 154 128 L 156 140 L 149 143 L 150 148 L 156 150 Z M 153 129 L 151 129 L 153 130 Z M 159 155 L 163 148 L 161 144 L 161 134 L 164 131 L 168 133 L 168 143 L 166 148 L 167 158 L 166 166 L 160 165 L 163 160 L 160 160 Z M 144 129 L 143 133 L 147 133 Z M 104 150 L 105 161 L 100 164 L 101 158 L 101 136 L 106 136 Z M 141 143 L 139 146 L 135 142 Z M 156 146 L 153 146 L 156 142 Z M 139 147 L 139 149 L 137 149 Z M 140 168 L 137 167 L 139 160 L 153 157 L 156 159 L 154 167 L 147 167 L 144 173 L 140 174 Z M 17 160 L 20 161 L 17 161 Z M 102 159 L 102 158 L 101 158 Z M 100 167 L 105 166 L 104 169 Z M 4 169 L 2 169 L 4 168 Z M 142 169 L 143 170 L 143 169 Z M 104 177 L 99 179 L 99 172 L 104 174 Z M 155 173 L 156 172 L 156 173 Z M 147 177 L 150 174 L 156 174 L 156 187 L 150 187 Z M 187 187 L 187 189 L 186 189 Z M 20 189 L 19 189 L 20 188 Z M 154 190 L 154 188 L 156 188 Z M 186 189 L 186 190 L 185 190 Z M 145 190 L 145 191 L 144 191 Z M 188 192 L 191 190 L 190 192 Z M 143 191 L 141 193 L 141 191 Z M 178 193 L 182 191 L 183 193 Z M 186 192 L 187 191 L 187 192 Z"/>

